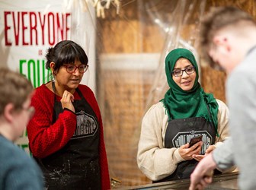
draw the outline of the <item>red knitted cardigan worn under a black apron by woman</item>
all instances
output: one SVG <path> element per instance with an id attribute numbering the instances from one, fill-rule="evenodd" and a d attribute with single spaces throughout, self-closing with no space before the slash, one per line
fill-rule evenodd
<path id="1" fill-rule="evenodd" d="M 82 84 L 79 84 L 78 88 L 94 110 L 100 124 L 99 160 L 101 166 L 101 188 L 110 189 L 101 112 L 91 89 Z M 61 99 L 58 96 L 56 98 L 57 100 Z M 75 100 L 80 99 L 76 91 L 74 98 Z M 45 84 L 37 87 L 31 100 L 31 106 L 34 106 L 36 113 L 27 125 L 27 137 L 34 157 L 47 157 L 61 149 L 72 138 L 75 131 L 76 116 L 73 112 L 66 109 L 59 114 L 59 118 L 52 124 L 53 103 L 54 93 Z"/>

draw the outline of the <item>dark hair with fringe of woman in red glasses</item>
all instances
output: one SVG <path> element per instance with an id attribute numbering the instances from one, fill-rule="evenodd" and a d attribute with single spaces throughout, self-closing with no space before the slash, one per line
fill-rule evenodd
<path id="1" fill-rule="evenodd" d="M 46 68 L 49 69 L 50 63 L 54 62 L 53 74 L 55 74 L 62 65 L 75 64 L 76 60 L 84 65 L 88 64 L 88 57 L 84 49 L 72 40 L 63 40 L 47 50 Z"/>

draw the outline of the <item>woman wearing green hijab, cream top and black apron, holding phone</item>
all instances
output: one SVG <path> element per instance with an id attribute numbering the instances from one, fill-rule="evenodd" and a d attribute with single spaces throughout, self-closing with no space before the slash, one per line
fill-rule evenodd
<path id="1" fill-rule="evenodd" d="M 174 49 L 165 58 L 169 90 L 142 119 L 137 163 L 153 182 L 190 177 L 198 161 L 228 137 L 229 109 L 205 93 L 192 52 Z M 191 138 L 202 141 L 190 146 Z"/>

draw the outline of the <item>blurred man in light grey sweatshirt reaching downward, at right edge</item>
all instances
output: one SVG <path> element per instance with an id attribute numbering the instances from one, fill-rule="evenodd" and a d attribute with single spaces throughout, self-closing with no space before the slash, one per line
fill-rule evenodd
<path id="1" fill-rule="evenodd" d="M 230 110 L 230 135 L 197 165 L 190 190 L 212 182 L 212 170 L 237 165 L 238 188 L 256 189 L 256 22 L 234 7 L 212 8 L 202 21 L 200 47 L 228 74 L 226 97 Z"/>

